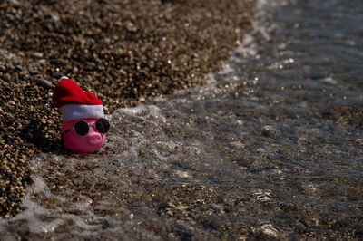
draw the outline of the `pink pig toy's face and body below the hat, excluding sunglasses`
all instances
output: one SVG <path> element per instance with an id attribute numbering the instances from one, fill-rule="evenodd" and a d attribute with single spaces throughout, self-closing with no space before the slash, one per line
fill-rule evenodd
<path id="1" fill-rule="evenodd" d="M 63 123 L 61 133 L 64 133 L 66 130 L 70 130 L 63 135 L 64 148 L 79 153 L 90 153 L 102 149 L 105 134 L 101 134 L 95 129 L 94 123 L 97 119 L 86 118 L 82 120 L 85 120 L 89 126 L 88 134 L 84 137 L 78 136 L 73 130 L 74 123 L 78 120 L 70 120 Z"/>

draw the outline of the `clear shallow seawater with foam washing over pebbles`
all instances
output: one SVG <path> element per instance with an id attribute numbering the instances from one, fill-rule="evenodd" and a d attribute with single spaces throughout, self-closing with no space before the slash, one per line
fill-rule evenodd
<path id="1" fill-rule="evenodd" d="M 0 235 L 363 236 L 363 2 L 260 1 L 201 88 L 115 111 L 101 153 L 32 161 Z"/>

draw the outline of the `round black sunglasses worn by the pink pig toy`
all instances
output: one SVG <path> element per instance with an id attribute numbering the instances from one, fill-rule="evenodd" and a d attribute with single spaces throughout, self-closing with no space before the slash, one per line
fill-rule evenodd
<path id="1" fill-rule="evenodd" d="M 101 134 L 105 134 L 108 132 L 108 130 L 110 130 L 110 123 L 108 122 L 108 120 L 100 118 L 94 122 L 94 127 Z M 90 126 L 85 120 L 78 120 L 77 122 L 74 123 L 73 129 L 65 130 L 61 134 L 61 139 L 63 140 L 64 134 L 71 130 L 74 130 L 77 136 L 85 137 L 88 134 L 88 131 L 90 131 Z"/>

